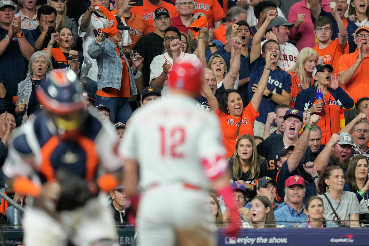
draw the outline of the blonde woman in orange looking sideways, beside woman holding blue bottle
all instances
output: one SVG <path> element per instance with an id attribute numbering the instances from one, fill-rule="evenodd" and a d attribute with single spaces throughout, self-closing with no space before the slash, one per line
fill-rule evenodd
<path id="1" fill-rule="evenodd" d="M 312 48 L 301 49 L 297 56 L 296 64 L 287 71 L 291 75 L 291 102 L 290 107 L 294 108 L 297 93 L 303 89 L 309 88 L 314 84 L 313 69 L 319 59 L 318 52 Z"/>

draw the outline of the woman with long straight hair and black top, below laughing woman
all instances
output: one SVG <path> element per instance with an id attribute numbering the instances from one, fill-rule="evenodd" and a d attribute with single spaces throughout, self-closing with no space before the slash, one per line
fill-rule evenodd
<path id="1" fill-rule="evenodd" d="M 237 139 L 230 166 L 233 181 L 243 184 L 251 191 L 251 197 L 256 195 L 254 183 L 259 177 L 267 176 L 267 166 L 265 158 L 258 155 L 252 136 L 245 134 Z"/>

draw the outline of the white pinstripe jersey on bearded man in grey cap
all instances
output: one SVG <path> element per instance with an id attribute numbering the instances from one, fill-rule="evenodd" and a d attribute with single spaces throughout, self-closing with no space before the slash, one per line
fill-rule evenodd
<path id="1" fill-rule="evenodd" d="M 265 42 L 266 40 L 262 41 L 261 45 L 263 45 Z M 279 44 L 279 51 L 280 57 L 277 66 L 287 72 L 296 64 L 299 50 L 293 44 L 286 42 L 284 44 Z"/>

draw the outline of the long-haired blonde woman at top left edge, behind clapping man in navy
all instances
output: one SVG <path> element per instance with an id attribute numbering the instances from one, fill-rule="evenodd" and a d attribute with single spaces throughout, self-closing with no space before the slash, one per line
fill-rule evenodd
<path id="1" fill-rule="evenodd" d="M 66 2 L 66 0 L 48 0 L 46 4 L 56 9 L 56 24 L 58 27 L 68 27 L 72 31 L 74 40 L 72 48 L 75 48 L 78 41 L 78 25 L 74 18 L 67 16 Z"/>

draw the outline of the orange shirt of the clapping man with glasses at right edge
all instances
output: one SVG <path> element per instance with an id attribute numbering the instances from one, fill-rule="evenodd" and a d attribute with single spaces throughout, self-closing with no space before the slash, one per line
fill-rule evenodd
<path id="1" fill-rule="evenodd" d="M 358 60 L 358 49 L 354 53 L 342 55 L 338 60 L 338 72 L 346 71 Z M 356 102 L 358 98 L 367 97 L 369 94 L 368 86 L 369 75 L 369 55 L 359 65 L 358 69 L 345 84 L 346 93 Z"/>

